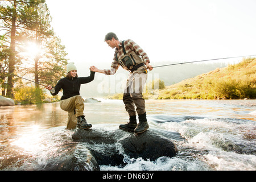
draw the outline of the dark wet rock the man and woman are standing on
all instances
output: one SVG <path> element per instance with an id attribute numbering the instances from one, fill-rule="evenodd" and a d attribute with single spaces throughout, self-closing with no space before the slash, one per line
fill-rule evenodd
<path id="1" fill-rule="evenodd" d="M 72 139 L 75 142 L 88 143 L 87 147 L 98 165 L 122 165 L 125 158 L 123 153 L 129 158 L 154 161 L 161 156 L 172 158 L 177 152 L 170 139 L 150 130 L 137 135 L 120 129 L 78 129 L 73 133 Z"/>

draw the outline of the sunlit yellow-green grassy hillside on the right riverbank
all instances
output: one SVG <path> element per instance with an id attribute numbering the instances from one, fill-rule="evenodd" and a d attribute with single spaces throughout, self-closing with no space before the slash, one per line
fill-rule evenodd
<path id="1" fill-rule="evenodd" d="M 158 96 L 158 99 L 196 98 L 256 98 L 256 58 L 166 86 L 159 90 Z"/>

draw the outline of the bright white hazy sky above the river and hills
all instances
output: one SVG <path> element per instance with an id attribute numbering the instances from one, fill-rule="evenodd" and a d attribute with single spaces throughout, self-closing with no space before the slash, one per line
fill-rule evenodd
<path id="1" fill-rule="evenodd" d="M 171 64 L 256 55 L 255 0 L 46 3 L 52 27 L 78 72 L 89 71 L 90 65 L 110 68 L 114 49 L 104 42 L 108 32 L 115 32 L 119 40 L 134 40 L 147 53 L 153 67 L 163 61 Z"/>

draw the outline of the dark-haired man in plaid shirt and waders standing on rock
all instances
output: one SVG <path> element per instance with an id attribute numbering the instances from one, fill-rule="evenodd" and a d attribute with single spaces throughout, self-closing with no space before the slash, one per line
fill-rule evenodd
<path id="1" fill-rule="evenodd" d="M 134 133 L 143 133 L 148 129 L 146 118 L 145 101 L 142 98 L 143 86 L 147 80 L 148 68 L 153 69 L 149 64 L 150 60 L 146 52 L 143 51 L 133 40 L 119 41 L 117 35 L 109 32 L 105 36 L 105 42 L 111 48 L 115 48 L 114 58 L 110 69 L 100 70 L 92 67 L 92 71 L 105 73 L 105 75 L 114 75 L 119 68 L 130 72 L 129 78 L 126 81 L 125 92 L 123 93 L 123 103 L 129 114 L 129 122 L 125 125 L 120 125 L 119 129 L 134 131 Z M 136 111 L 138 113 L 139 124 L 137 125 Z"/>

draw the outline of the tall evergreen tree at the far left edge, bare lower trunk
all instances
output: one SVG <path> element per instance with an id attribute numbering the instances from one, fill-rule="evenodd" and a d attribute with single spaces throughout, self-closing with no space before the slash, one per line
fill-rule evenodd
<path id="1" fill-rule="evenodd" d="M 29 8 L 32 4 L 39 4 L 44 1 L 36 0 L 9 0 L 0 1 L 0 20 L 1 33 L 5 40 L 5 45 L 9 49 L 8 72 L 14 73 L 17 64 L 16 42 L 17 35 L 20 31 L 27 28 L 30 19 L 34 18 L 35 12 Z M 29 17 L 29 18 L 28 18 Z M 12 75 L 8 75 L 7 80 L 7 97 L 13 98 L 14 80 Z"/>

